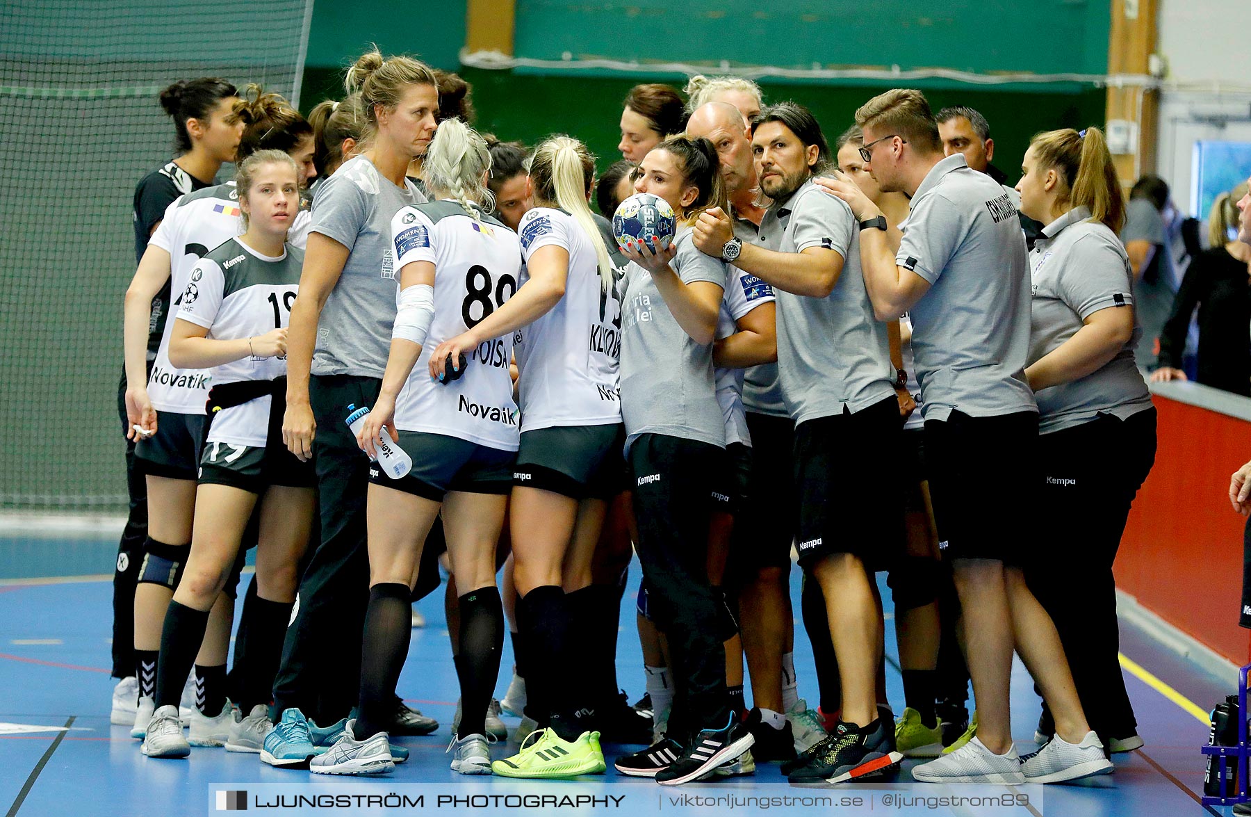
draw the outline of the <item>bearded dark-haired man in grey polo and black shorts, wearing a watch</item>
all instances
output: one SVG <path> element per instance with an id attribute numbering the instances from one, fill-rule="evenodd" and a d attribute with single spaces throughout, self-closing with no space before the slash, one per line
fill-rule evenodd
<path id="1" fill-rule="evenodd" d="M 889 567 L 903 543 L 902 422 L 886 324 L 873 319 L 858 246 L 859 230 L 884 235 L 886 219 L 857 225 L 849 208 L 813 184 L 829 149 L 801 105 L 761 111 L 752 154 L 761 190 L 773 201 L 761 221 L 763 245 L 736 239 L 717 209 L 699 216 L 694 240 L 777 295 L 778 374 L 796 423 L 796 547 L 827 599 L 842 682 L 837 727 L 788 777 L 868 779 L 902 759 L 894 723 L 877 709 L 882 616 L 873 594 L 873 572 Z"/>

